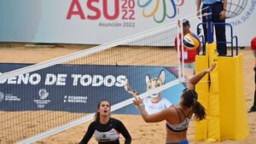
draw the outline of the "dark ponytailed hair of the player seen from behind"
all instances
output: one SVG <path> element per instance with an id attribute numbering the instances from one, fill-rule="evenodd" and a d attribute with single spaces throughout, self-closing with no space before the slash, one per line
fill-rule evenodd
<path id="1" fill-rule="evenodd" d="M 206 109 L 201 106 L 201 103 L 197 101 L 197 93 L 194 89 L 185 89 L 183 91 L 183 101 L 182 104 L 184 107 L 192 107 L 193 112 L 195 113 L 196 120 L 202 120 L 206 118 Z"/>

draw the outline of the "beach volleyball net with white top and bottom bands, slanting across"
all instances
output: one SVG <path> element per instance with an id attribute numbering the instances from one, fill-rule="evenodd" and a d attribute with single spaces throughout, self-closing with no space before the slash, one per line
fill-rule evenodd
<path id="1" fill-rule="evenodd" d="M 112 111 L 132 103 L 125 79 L 146 97 L 179 84 L 173 48 L 177 22 L 91 49 L 24 65 L 0 75 L 0 142 L 31 143 L 94 118 L 98 101 Z M 179 46 L 179 43 L 177 43 Z M 166 83 L 146 91 L 145 75 L 166 72 Z"/>

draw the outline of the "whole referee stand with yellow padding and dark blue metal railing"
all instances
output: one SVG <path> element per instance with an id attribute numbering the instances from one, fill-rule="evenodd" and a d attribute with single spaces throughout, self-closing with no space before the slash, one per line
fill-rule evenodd
<path id="1" fill-rule="evenodd" d="M 211 9 L 208 9 L 211 13 Z M 203 55 L 195 58 L 195 72 L 201 72 L 212 63 L 217 67 L 196 85 L 199 101 L 207 109 L 207 118 L 195 122 L 196 141 L 242 140 L 249 135 L 247 106 L 243 78 L 243 54 L 238 54 L 237 37 L 233 37 L 232 26 L 228 23 L 214 23 L 207 15 L 207 42 Z M 213 25 L 230 26 L 231 55 L 217 56 L 217 43 L 213 42 Z M 198 29 L 199 30 L 199 29 Z M 233 39 L 236 40 L 234 55 Z"/>

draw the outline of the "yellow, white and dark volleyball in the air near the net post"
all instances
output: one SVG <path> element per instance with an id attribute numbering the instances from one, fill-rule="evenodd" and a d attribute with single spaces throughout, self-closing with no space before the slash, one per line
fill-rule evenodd
<path id="1" fill-rule="evenodd" d="M 200 40 L 195 33 L 190 32 L 183 37 L 183 44 L 188 50 L 194 50 L 200 46 Z"/>

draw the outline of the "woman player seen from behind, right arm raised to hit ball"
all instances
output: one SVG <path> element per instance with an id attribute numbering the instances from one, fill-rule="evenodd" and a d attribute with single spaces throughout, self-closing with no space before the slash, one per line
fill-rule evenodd
<path id="1" fill-rule="evenodd" d="M 213 64 L 210 68 L 195 74 L 192 78 L 189 78 L 187 88 L 183 90 L 181 95 L 181 101 L 177 106 L 166 108 L 160 112 L 149 115 L 143 106 L 143 101 L 135 96 L 133 101 L 137 107 L 139 107 L 143 119 L 147 123 L 155 123 L 166 120 L 166 144 L 188 144 L 187 129 L 189 127 L 189 120 L 192 114 L 195 113 L 197 120 L 206 118 L 205 108 L 201 106 L 201 103 L 197 101 L 197 94 L 195 92 L 195 84 L 197 84 L 201 78 L 207 73 L 212 72 L 216 64 Z"/>

